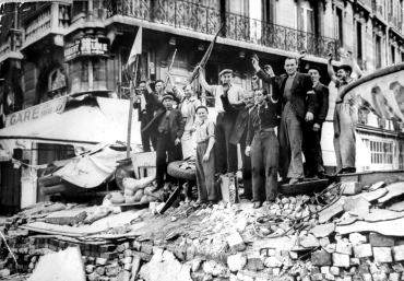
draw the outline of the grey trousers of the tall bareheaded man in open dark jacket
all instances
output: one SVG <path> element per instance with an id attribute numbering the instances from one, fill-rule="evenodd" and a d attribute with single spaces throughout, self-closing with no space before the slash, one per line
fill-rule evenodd
<path id="1" fill-rule="evenodd" d="M 292 104 L 282 112 L 280 128 L 280 174 L 282 178 L 304 178 L 301 157 L 302 122 Z"/>

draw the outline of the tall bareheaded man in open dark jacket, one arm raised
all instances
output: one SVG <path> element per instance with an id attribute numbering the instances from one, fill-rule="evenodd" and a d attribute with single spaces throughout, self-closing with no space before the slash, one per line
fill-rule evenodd
<path id="1" fill-rule="evenodd" d="M 258 59 L 252 58 L 257 75 L 264 82 L 270 83 L 270 77 L 262 71 Z M 296 58 L 286 58 L 286 74 L 277 79 L 280 91 L 273 91 L 272 98 L 282 104 L 280 139 L 280 174 L 285 180 L 290 178 L 289 185 L 300 182 L 305 177 L 301 145 L 305 121 L 313 119 L 317 110 L 317 97 L 312 91 L 311 79 L 308 74 L 297 72 Z M 280 92 L 278 96 L 276 96 Z"/>

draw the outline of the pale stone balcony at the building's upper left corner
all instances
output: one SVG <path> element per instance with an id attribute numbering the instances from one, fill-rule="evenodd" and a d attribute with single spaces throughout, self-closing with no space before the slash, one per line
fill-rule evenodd
<path id="1" fill-rule="evenodd" d="M 58 2 L 44 4 L 23 21 L 24 42 L 22 49 L 49 34 L 64 35 L 70 23 L 70 4 Z"/>

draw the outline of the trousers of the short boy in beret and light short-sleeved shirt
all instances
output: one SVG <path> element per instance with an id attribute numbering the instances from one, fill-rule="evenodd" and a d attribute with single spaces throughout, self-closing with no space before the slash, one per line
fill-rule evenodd
<path id="1" fill-rule="evenodd" d="M 203 162 L 203 155 L 207 149 L 207 143 L 197 145 L 197 187 L 198 198 L 201 201 L 216 200 L 216 180 L 215 180 L 215 153 L 211 150 L 209 161 Z"/>

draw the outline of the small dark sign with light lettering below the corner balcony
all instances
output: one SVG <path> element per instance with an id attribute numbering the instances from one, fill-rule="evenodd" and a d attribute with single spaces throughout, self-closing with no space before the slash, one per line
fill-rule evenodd
<path id="1" fill-rule="evenodd" d="M 109 39 L 83 37 L 69 43 L 64 47 L 64 60 L 80 56 L 108 56 Z"/>

